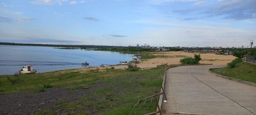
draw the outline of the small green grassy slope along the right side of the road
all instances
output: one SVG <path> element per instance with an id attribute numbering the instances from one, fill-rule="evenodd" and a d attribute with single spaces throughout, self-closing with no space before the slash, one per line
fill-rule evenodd
<path id="1" fill-rule="evenodd" d="M 210 70 L 228 77 L 256 83 L 256 65 L 251 63 L 240 62 L 234 68 L 223 67 Z"/>

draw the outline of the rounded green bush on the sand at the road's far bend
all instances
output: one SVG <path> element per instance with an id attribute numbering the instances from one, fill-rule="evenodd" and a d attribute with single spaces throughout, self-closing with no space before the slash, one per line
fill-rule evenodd
<path id="1" fill-rule="evenodd" d="M 201 60 L 201 56 L 199 54 L 199 55 L 194 55 L 194 58 L 186 57 L 186 58 L 180 59 L 180 63 L 194 65 L 194 64 L 199 64 L 200 60 Z"/>

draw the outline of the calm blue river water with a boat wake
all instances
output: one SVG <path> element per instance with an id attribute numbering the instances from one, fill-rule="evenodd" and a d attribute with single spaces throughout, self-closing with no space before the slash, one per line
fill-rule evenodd
<path id="1" fill-rule="evenodd" d="M 0 75 L 15 74 L 25 65 L 33 65 L 37 73 L 83 68 L 85 67 L 81 66 L 83 61 L 90 63 L 89 66 L 113 65 L 118 64 L 119 61 L 129 61 L 131 56 L 119 52 L 0 45 Z"/>

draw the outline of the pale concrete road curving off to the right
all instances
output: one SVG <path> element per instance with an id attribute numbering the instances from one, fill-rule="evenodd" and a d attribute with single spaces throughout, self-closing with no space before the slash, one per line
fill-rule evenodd
<path id="1" fill-rule="evenodd" d="M 164 115 L 255 115 L 256 87 L 208 72 L 222 67 L 179 66 L 167 70 Z"/>

